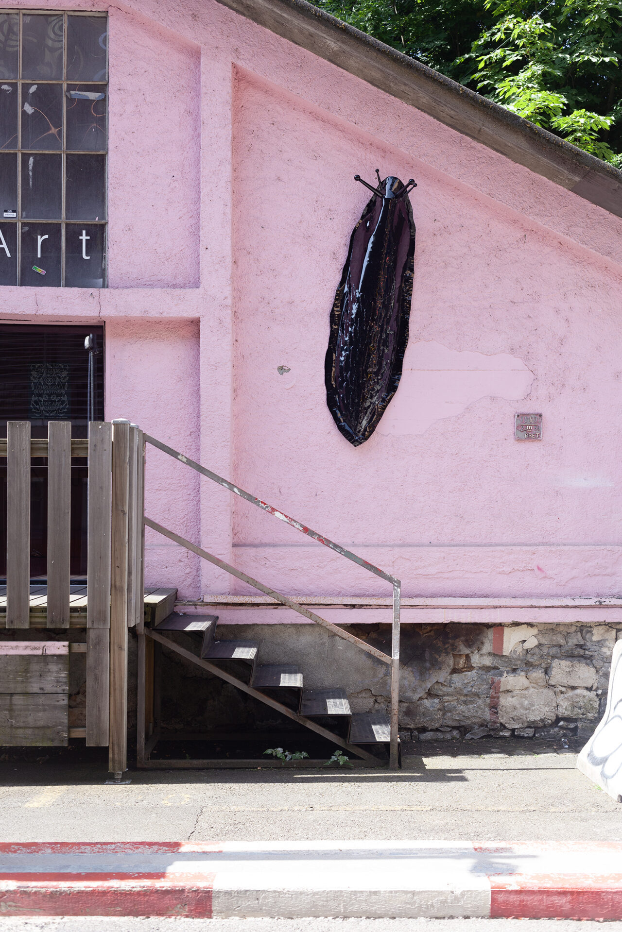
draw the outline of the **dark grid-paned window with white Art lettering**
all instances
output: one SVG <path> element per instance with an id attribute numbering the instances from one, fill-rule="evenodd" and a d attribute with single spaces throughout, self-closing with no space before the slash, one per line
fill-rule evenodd
<path id="1" fill-rule="evenodd" d="M 0 11 L 0 284 L 105 285 L 107 18 Z"/>

